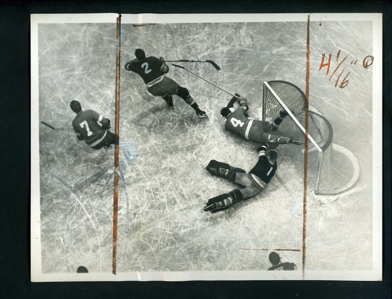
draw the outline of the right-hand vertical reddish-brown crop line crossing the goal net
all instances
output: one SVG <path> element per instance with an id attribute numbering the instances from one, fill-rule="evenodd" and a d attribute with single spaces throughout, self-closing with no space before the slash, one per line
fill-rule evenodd
<path id="1" fill-rule="evenodd" d="M 305 279 L 305 261 L 306 261 L 306 213 L 307 202 L 306 196 L 308 191 L 308 116 L 309 116 L 309 72 L 310 72 L 310 47 L 309 47 L 309 23 L 310 14 L 307 22 L 306 38 L 306 108 L 305 108 L 305 154 L 303 156 L 303 223 L 302 223 L 302 279 Z"/>

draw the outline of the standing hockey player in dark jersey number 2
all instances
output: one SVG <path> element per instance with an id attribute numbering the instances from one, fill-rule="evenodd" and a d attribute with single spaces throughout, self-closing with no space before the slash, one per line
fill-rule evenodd
<path id="1" fill-rule="evenodd" d="M 162 57 L 146 57 L 142 49 L 136 49 L 135 56 L 136 59 L 125 64 L 125 70 L 140 75 L 147 85 L 147 91 L 150 94 L 162 97 L 169 106 L 173 106 L 172 95 L 178 95 L 195 110 L 199 118 L 207 117 L 205 112 L 200 110 L 195 100 L 191 97 L 187 88 L 179 86 L 175 81 L 165 76 L 169 72 L 169 66 L 167 66 Z"/>

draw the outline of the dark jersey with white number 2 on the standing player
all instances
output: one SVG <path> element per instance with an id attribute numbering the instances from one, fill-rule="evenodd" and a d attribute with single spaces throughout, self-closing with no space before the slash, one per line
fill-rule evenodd
<path id="1" fill-rule="evenodd" d="M 150 56 L 142 60 L 132 60 L 128 62 L 125 64 L 125 69 L 140 75 L 145 84 L 151 84 L 165 75 L 165 73 L 162 72 L 164 65 L 165 63 L 160 59 Z"/>

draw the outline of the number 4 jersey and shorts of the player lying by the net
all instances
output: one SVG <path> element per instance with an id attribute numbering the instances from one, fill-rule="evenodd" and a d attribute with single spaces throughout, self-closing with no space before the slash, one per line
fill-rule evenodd
<path id="1" fill-rule="evenodd" d="M 227 117 L 226 130 L 240 134 L 242 138 L 249 139 L 258 143 L 268 142 L 264 132 L 271 130 L 271 124 L 268 121 L 260 121 L 257 119 L 248 119 L 245 116 L 246 108 L 241 106 Z"/>

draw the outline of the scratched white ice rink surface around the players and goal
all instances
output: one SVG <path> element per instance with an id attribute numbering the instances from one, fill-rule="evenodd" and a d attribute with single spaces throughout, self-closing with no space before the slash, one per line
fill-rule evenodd
<path id="1" fill-rule="evenodd" d="M 136 48 L 166 60 L 213 60 L 221 71 L 208 63 L 178 64 L 247 97 L 250 115 L 261 119 L 263 81 L 289 81 L 305 92 L 306 24 L 122 24 L 120 138 L 132 141 L 139 156 L 119 183 L 118 272 L 263 270 L 270 267 L 269 251 L 243 249 L 302 249 L 301 151 L 279 146 L 278 171 L 258 196 L 206 213 L 209 198 L 237 187 L 209 174 L 208 162 L 249 171 L 259 145 L 225 131 L 220 109 L 230 95 L 169 64 L 167 76 L 188 88 L 209 116 L 198 119 L 180 97 L 173 109 L 148 94 L 123 65 Z M 39 25 L 40 121 L 71 127 L 69 102 L 77 99 L 114 123 L 115 26 Z M 371 22 L 310 22 L 309 104 L 332 124 L 333 142 L 358 157 L 361 174 L 328 204 L 314 194 L 315 174 L 309 174 L 307 270 L 372 268 L 372 68 L 362 66 L 372 55 L 371 37 Z M 339 50 L 339 62 L 348 57 L 329 81 Z M 326 67 L 319 71 L 322 53 L 332 53 L 328 75 Z M 347 72 L 350 81 L 339 88 Z M 40 125 L 40 182 L 43 273 L 75 272 L 80 265 L 111 272 L 113 149 L 95 151 L 72 130 Z M 301 252 L 279 254 L 301 269 Z"/>

